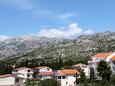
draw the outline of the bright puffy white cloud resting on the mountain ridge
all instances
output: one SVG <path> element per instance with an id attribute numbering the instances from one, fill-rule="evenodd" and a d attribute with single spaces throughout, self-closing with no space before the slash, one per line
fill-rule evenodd
<path id="1" fill-rule="evenodd" d="M 82 28 L 78 27 L 77 23 L 72 23 L 68 25 L 65 29 L 43 29 L 38 33 L 38 36 L 45 36 L 49 38 L 71 38 L 82 34 L 82 32 Z"/>

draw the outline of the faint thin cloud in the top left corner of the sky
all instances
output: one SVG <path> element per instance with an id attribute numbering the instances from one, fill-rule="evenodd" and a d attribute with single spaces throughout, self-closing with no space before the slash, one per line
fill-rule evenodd
<path id="1" fill-rule="evenodd" d="M 0 4 L 5 4 L 18 9 L 32 9 L 32 0 L 0 0 Z"/>

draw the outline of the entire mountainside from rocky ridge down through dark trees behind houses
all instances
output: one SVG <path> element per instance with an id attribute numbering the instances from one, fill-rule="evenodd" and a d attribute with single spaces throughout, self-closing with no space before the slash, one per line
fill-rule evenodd
<path id="1" fill-rule="evenodd" d="M 82 62 L 100 52 L 115 51 L 115 32 L 81 35 L 75 39 L 13 37 L 0 42 L 0 69 L 47 65 L 53 69 Z M 2 73 L 1 71 L 1 73 Z"/>

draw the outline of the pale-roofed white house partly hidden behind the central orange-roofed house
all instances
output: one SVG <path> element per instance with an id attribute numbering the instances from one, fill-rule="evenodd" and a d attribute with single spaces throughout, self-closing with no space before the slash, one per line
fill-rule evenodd
<path id="1" fill-rule="evenodd" d="M 88 65 L 80 63 L 80 64 L 76 64 L 76 65 L 71 66 L 71 68 L 76 69 L 78 71 L 83 70 L 86 77 L 90 78 L 90 67 Z"/>

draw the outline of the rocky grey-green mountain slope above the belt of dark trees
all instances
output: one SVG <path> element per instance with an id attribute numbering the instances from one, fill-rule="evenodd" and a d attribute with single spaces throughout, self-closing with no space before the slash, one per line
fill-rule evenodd
<path id="1" fill-rule="evenodd" d="M 98 52 L 115 51 L 115 32 L 81 35 L 75 39 L 18 36 L 0 41 L 0 60 L 86 59 Z M 50 59 L 49 59 L 50 58 Z"/>

